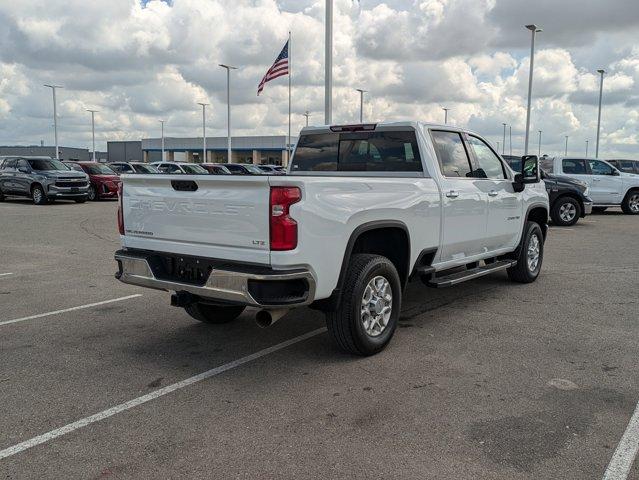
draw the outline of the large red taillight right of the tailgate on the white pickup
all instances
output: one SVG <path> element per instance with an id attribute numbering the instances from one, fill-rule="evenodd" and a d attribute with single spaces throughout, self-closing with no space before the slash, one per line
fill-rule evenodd
<path id="1" fill-rule="evenodd" d="M 271 187 L 271 250 L 293 250 L 297 247 L 297 222 L 289 216 L 289 208 L 302 199 L 297 187 Z"/>

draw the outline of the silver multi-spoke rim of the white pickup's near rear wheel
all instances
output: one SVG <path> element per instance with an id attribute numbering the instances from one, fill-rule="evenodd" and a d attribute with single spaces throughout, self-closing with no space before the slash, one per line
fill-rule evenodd
<path id="1" fill-rule="evenodd" d="M 393 311 L 393 290 L 390 282 L 382 276 L 374 277 L 362 295 L 360 319 L 364 330 L 377 337 L 386 330 Z"/>

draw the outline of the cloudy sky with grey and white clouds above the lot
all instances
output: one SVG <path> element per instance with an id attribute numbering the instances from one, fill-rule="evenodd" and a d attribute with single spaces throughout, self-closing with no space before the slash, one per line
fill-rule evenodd
<path id="1" fill-rule="evenodd" d="M 604 81 L 601 156 L 639 158 L 638 0 L 335 0 L 334 122 L 420 119 L 469 127 L 494 143 L 512 125 L 523 149 L 530 32 L 537 23 L 531 150 L 591 150 L 598 68 Z M 201 135 L 197 102 L 211 104 L 209 135 L 226 134 L 233 73 L 236 135 L 284 134 L 286 78 L 257 84 L 292 31 L 293 129 L 323 121 L 324 0 L 0 0 L 0 144 Z"/>

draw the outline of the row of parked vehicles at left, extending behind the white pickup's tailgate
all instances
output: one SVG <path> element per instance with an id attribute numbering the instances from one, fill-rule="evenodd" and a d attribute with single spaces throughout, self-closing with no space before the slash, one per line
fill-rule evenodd
<path id="1" fill-rule="evenodd" d="M 36 205 L 55 200 L 117 198 L 122 174 L 284 175 L 277 165 L 180 162 L 75 162 L 50 157 L 0 157 L 0 201 L 30 197 Z"/>

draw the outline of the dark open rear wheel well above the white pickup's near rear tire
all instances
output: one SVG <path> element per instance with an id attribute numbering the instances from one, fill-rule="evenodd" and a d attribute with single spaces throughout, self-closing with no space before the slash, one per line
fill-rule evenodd
<path id="1" fill-rule="evenodd" d="M 400 227 L 382 227 L 362 232 L 355 240 L 351 255 L 372 253 L 388 258 L 399 274 L 402 286 L 408 279 L 410 242 L 408 234 Z"/>

